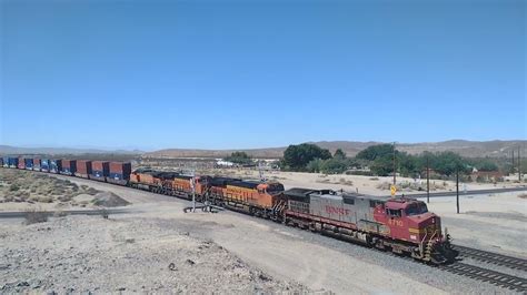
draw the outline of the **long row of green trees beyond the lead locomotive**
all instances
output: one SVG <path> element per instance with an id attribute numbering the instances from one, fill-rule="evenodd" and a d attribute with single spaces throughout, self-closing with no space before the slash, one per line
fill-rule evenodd
<path id="1" fill-rule="evenodd" d="M 507 162 L 500 163 L 496 159 L 469 159 L 454 152 L 424 152 L 414 155 L 394 150 L 392 144 L 372 145 L 356 156 L 349 157 L 340 149 L 331 154 L 329 150 L 321 149 L 316 144 L 302 143 L 289 145 L 280 161 L 281 169 L 286 171 L 336 174 L 355 169 L 364 170 L 365 174 L 387 176 L 394 173 L 395 166 L 397 173 L 410 177 L 422 174 L 427 165 L 435 173 L 446 176 L 454 175 L 456 171 L 466 174 L 473 169 L 510 172 L 510 165 L 507 165 Z"/>

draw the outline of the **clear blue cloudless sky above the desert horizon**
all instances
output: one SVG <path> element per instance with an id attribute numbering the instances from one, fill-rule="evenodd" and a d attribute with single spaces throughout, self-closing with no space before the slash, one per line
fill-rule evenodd
<path id="1" fill-rule="evenodd" d="M 1 144 L 527 138 L 523 0 L 0 2 Z"/>

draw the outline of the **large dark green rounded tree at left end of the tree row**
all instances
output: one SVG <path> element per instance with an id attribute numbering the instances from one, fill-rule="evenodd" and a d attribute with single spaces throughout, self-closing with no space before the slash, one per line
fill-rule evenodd
<path id="1" fill-rule="evenodd" d="M 328 150 L 310 143 L 289 145 L 284 152 L 282 166 L 295 171 L 304 171 L 309 162 L 315 159 L 327 160 L 331 157 Z"/>

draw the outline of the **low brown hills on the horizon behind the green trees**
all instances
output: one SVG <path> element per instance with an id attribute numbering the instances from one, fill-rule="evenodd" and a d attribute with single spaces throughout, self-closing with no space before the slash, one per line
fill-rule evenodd
<path id="1" fill-rule="evenodd" d="M 364 149 L 380 144 L 381 142 L 355 142 L 355 141 L 321 141 L 311 142 L 322 149 L 328 149 L 334 153 L 337 149 L 341 149 L 346 154 L 354 156 Z M 410 154 L 422 153 L 424 151 L 444 152 L 451 151 L 463 156 L 491 156 L 501 157 L 510 156 L 513 149 L 518 150 L 527 157 L 527 141 L 465 141 L 451 140 L 444 142 L 424 142 L 424 143 L 397 143 L 397 149 Z M 279 159 L 284 155 L 287 146 L 269 148 L 269 149 L 249 149 L 249 150 L 191 150 L 191 149 L 167 149 L 155 152 L 145 153 L 147 157 L 223 157 L 230 155 L 235 151 L 242 151 L 253 157 L 260 159 Z"/>

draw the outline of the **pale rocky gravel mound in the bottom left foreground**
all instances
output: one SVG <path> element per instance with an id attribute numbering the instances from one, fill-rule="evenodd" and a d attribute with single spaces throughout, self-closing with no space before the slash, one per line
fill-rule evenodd
<path id="1" fill-rule="evenodd" d="M 0 240 L 0 293 L 309 292 L 165 220 L 68 216 L 2 230 Z"/>

